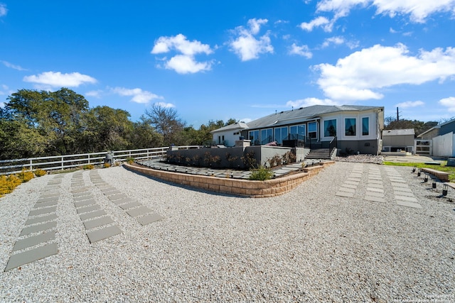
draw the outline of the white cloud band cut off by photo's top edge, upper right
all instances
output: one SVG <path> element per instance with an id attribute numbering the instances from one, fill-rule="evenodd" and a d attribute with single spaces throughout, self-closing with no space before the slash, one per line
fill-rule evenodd
<path id="1" fill-rule="evenodd" d="M 350 10 L 356 6 L 374 6 L 377 15 L 388 15 L 390 18 L 396 15 L 410 15 L 410 20 L 415 23 L 424 23 L 433 13 L 455 13 L 455 0 L 322 0 L 317 4 L 317 11 L 333 12 L 334 19 L 338 19 L 348 16 Z"/>

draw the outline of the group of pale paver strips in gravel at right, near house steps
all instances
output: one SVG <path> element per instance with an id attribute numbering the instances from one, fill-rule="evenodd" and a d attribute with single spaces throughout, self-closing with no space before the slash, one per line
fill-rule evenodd
<path id="1" fill-rule="evenodd" d="M 386 203 L 391 202 L 399 206 L 407 206 L 420 209 L 422 206 L 418 199 L 412 193 L 409 185 L 403 180 L 400 172 L 395 167 L 382 167 L 379 165 L 369 165 L 366 176 L 363 174 L 364 165 L 355 164 L 348 178 L 338 188 L 336 196 L 353 198 L 360 186 L 365 186 L 363 199 L 369 202 Z M 366 182 L 365 182 L 366 180 Z M 385 198 L 385 182 L 392 184 L 393 201 L 387 201 Z"/>

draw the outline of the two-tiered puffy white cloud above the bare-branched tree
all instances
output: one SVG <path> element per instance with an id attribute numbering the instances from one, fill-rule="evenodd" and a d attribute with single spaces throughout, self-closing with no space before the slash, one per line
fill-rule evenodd
<path id="1" fill-rule="evenodd" d="M 175 70 L 179 74 L 188 74 L 210 70 L 212 67 L 213 62 L 197 62 L 195 57 L 201 53 L 205 55 L 213 53 L 210 45 L 200 43 L 198 40 L 190 41 L 181 33 L 171 37 L 160 37 L 156 40 L 150 53 L 161 54 L 171 51 L 176 51 L 179 54 L 171 57 L 171 59 L 167 57 L 161 59 L 165 61 L 164 67 L 168 70 Z"/>

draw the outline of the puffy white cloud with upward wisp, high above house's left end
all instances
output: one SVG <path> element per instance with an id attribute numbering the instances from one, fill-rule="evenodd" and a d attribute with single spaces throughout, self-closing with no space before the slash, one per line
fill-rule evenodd
<path id="1" fill-rule="evenodd" d="M 273 53 L 274 49 L 270 43 L 269 33 L 255 38 L 255 35 L 260 31 L 260 27 L 267 22 L 267 19 L 250 19 L 248 21 L 250 28 L 244 28 L 243 26 L 235 28 L 235 33 L 238 37 L 230 42 L 230 47 L 240 57 L 240 60 L 248 61 L 257 59 L 259 54 Z"/>

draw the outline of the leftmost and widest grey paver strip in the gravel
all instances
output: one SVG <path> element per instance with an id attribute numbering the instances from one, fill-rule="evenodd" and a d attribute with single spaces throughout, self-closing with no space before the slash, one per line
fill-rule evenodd
<path id="1" fill-rule="evenodd" d="M 6 263 L 4 271 L 58 253 L 55 229 L 57 228 L 56 211 L 62 179 L 63 175 L 53 177 L 45 187 L 45 194 L 41 194 L 33 209 L 28 213 L 28 219 L 19 239 L 14 244 L 12 255 Z"/>

